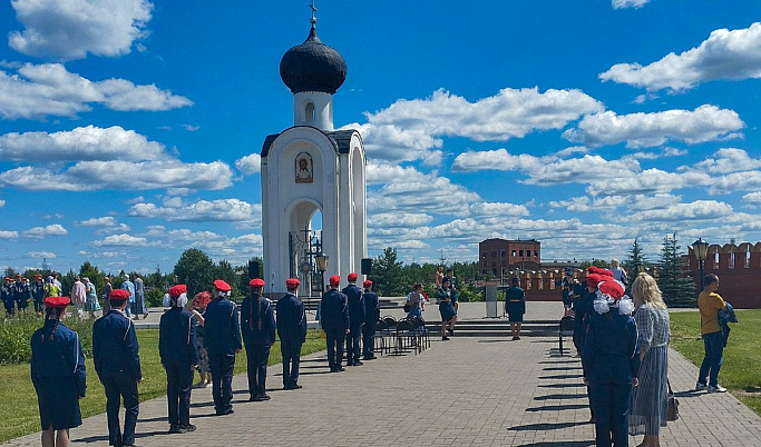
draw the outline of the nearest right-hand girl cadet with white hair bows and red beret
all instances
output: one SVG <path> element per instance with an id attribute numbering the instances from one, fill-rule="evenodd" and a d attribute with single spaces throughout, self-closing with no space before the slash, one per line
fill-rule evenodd
<path id="1" fill-rule="evenodd" d="M 584 381 L 595 413 L 597 446 L 625 447 L 632 386 L 637 386 L 640 369 L 637 326 L 631 317 L 634 302 L 619 281 L 601 277 L 582 349 Z"/>

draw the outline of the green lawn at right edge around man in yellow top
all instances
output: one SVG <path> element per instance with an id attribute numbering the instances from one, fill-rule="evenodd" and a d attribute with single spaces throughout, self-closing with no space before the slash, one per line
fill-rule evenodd
<path id="1" fill-rule="evenodd" d="M 730 340 L 719 371 L 719 384 L 761 415 L 761 309 L 738 310 L 738 324 L 730 324 Z M 671 347 L 700 366 L 705 354 L 700 337 L 700 314 L 671 314 Z"/>

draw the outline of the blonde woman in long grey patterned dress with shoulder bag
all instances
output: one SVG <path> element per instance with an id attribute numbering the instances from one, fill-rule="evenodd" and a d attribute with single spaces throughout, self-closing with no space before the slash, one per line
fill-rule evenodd
<path id="1" fill-rule="evenodd" d="M 632 394 L 630 435 L 645 435 L 638 447 L 657 447 L 669 413 L 669 310 L 655 279 L 640 274 L 632 285 L 640 337 L 640 386 Z"/>

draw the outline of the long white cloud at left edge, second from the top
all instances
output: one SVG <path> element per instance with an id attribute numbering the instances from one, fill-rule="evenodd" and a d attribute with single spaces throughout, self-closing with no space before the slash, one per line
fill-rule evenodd
<path id="1" fill-rule="evenodd" d="M 90 81 L 60 63 L 25 63 L 18 74 L 0 70 L 0 117 L 42 119 L 76 117 L 100 103 L 113 110 L 170 110 L 193 105 L 156 86 L 135 86 L 125 79 Z"/>

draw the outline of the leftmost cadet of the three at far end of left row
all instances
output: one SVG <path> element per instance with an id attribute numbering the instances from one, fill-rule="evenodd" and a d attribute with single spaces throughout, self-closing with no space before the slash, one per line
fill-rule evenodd
<path id="1" fill-rule="evenodd" d="M 349 334 L 349 307 L 347 296 L 338 290 L 341 277 L 330 277 L 330 287 L 320 300 L 322 329 L 328 341 L 328 365 L 331 372 L 343 371 L 343 338 Z"/>

